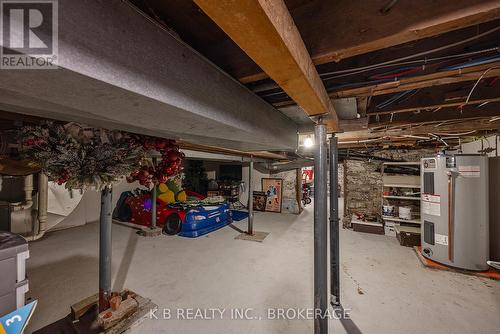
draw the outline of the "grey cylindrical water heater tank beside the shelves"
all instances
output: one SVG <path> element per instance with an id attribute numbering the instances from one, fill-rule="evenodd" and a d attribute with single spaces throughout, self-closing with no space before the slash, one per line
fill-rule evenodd
<path id="1" fill-rule="evenodd" d="M 488 269 L 488 157 L 438 155 L 421 164 L 422 254 L 455 268 Z"/>

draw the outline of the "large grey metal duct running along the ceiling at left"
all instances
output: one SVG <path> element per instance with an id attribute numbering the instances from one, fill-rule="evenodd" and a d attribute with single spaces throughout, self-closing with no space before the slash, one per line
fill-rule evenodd
<path id="1" fill-rule="evenodd" d="M 239 150 L 297 126 L 127 2 L 59 1 L 57 70 L 2 70 L 0 110 Z"/>

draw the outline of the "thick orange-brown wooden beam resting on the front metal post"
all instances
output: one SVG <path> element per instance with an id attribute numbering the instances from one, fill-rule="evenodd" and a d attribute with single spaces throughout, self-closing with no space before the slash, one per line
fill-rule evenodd
<path id="1" fill-rule="evenodd" d="M 337 115 L 283 0 L 194 2 L 310 116 Z"/>

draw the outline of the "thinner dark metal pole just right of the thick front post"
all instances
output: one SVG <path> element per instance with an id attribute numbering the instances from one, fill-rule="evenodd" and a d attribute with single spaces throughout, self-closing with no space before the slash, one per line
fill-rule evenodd
<path id="1" fill-rule="evenodd" d="M 330 138 L 330 293 L 332 306 L 340 305 L 340 240 L 338 200 L 338 149 L 335 134 Z"/>

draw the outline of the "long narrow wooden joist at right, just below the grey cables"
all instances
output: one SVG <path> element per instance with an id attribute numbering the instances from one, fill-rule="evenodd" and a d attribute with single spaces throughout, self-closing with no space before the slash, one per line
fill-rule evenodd
<path id="1" fill-rule="evenodd" d="M 487 71 L 490 68 L 491 70 Z M 375 85 L 351 88 L 351 89 L 331 92 L 329 95 L 332 98 L 384 95 L 384 94 L 403 92 L 412 89 L 420 89 L 425 87 L 447 85 L 456 82 L 477 80 L 483 74 L 484 74 L 483 78 L 500 76 L 500 62 L 471 66 L 468 68 L 462 68 L 457 70 L 435 72 L 431 74 L 405 78 L 397 81 L 390 81 Z"/>

